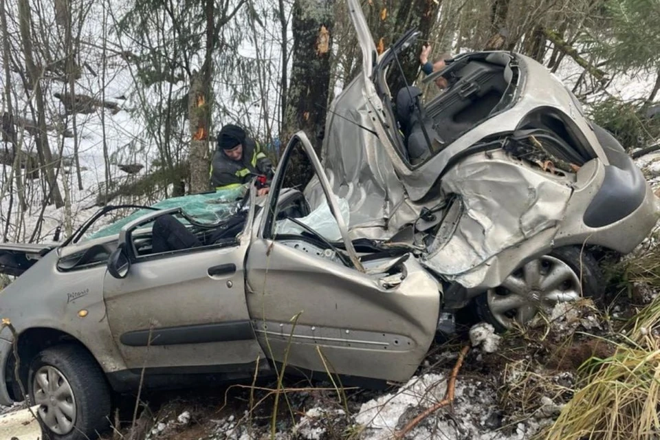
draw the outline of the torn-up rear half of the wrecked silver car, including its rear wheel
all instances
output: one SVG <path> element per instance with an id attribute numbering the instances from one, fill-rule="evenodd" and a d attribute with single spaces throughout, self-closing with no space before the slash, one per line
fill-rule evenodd
<path id="1" fill-rule="evenodd" d="M 619 142 L 521 54 L 463 54 L 426 86 L 391 89 L 388 73 L 419 33 L 375 59 L 349 4 L 362 72 L 331 106 L 322 162 L 351 207 L 351 238 L 406 243 L 443 282 L 445 308 L 474 300 L 499 329 L 544 304 L 601 295 L 595 250 L 632 251 L 659 217 Z M 439 77 L 448 86 L 423 100 Z M 584 265 L 593 276 L 580 280 Z"/>

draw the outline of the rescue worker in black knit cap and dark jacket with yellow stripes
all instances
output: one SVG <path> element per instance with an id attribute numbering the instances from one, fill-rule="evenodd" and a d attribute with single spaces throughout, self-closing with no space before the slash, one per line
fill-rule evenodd
<path id="1" fill-rule="evenodd" d="M 245 184 L 255 174 L 270 177 L 272 173 L 273 163 L 245 130 L 234 124 L 222 127 L 211 163 L 211 184 L 216 190 Z M 257 195 L 267 194 L 268 189 L 259 188 Z"/>

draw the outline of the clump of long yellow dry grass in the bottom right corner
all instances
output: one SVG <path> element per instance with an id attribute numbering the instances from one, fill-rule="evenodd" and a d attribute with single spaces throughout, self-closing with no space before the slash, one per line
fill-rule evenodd
<path id="1" fill-rule="evenodd" d="M 626 262 L 632 283 L 660 287 L 660 253 L 652 250 Z M 583 366 L 582 388 L 553 426 L 538 438 L 657 439 L 660 434 L 660 298 L 639 311 L 624 327 L 608 358 Z"/>

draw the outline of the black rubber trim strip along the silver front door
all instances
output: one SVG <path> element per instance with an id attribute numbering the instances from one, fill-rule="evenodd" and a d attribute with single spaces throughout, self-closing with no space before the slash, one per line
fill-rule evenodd
<path id="1" fill-rule="evenodd" d="M 149 344 L 150 332 L 151 344 Z M 122 344 L 129 347 L 204 344 L 206 342 L 231 342 L 251 339 L 254 339 L 254 331 L 249 320 L 135 330 L 124 333 L 120 337 Z"/>

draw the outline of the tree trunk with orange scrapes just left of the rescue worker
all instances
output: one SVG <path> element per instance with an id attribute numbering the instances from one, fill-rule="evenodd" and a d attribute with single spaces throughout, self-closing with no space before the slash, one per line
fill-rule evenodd
<path id="1" fill-rule="evenodd" d="M 190 113 L 190 192 L 208 191 L 210 155 L 208 128 L 210 126 L 211 71 L 213 51 L 213 0 L 206 0 L 206 56 L 199 74 L 192 77 L 188 94 Z"/>

